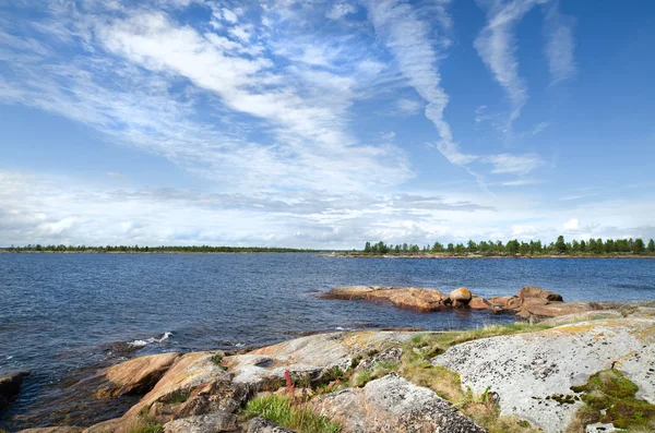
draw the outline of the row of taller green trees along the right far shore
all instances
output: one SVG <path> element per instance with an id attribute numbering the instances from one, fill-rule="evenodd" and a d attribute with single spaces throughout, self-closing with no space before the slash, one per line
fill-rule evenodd
<path id="1" fill-rule="evenodd" d="M 466 244 L 434 242 L 432 245 L 419 246 L 417 244 L 386 244 L 367 242 L 360 252 L 364 255 L 383 254 L 444 254 L 444 255 L 655 255 L 653 239 L 646 244 L 643 239 L 590 239 L 587 241 L 572 240 L 567 242 L 563 236 L 549 244 L 541 241 L 520 242 L 517 240 L 502 243 L 502 241 L 469 240 Z"/>

